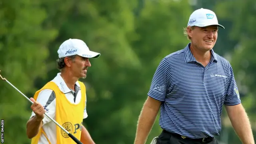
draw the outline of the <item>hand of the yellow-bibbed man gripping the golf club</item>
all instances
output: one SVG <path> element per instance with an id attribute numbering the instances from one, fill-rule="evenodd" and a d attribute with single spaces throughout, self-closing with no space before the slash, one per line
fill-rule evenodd
<path id="1" fill-rule="evenodd" d="M 44 113 L 46 112 L 45 110 L 44 110 L 44 107 L 41 105 L 41 104 L 39 104 L 38 102 L 36 102 L 36 100 L 34 100 L 34 98 L 30 98 L 30 100 L 32 101 L 32 102 L 34 102 L 31 106 L 30 106 L 30 108 L 33 110 L 33 112 L 36 114 L 36 119 L 38 120 L 38 121 L 41 121 L 41 120 L 43 120 L 44 119 Z"/>

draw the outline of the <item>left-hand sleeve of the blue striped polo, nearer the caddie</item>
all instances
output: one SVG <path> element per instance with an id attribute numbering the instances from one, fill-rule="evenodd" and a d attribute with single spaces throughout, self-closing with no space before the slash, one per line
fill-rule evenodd
<path id="1" fill-rule="evenodd" d="M 150 90 L 148 92 L 148 96 L 156 100 L 164 101 L 166 94 L 168 93 L 168 88 L 170 87 L 170 83 L 171 83 L 170 66 L 166 58 L 163 58 L 154 73 Z"/>

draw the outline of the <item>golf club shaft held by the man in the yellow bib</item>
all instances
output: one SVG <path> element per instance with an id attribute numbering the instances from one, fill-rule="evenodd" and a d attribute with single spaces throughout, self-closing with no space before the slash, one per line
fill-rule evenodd
<path id="1" fill-rule="evenodd" d="M 10 84 L 13 88 L 15 88 L 15 90 L 17 90 L 18 92 L 20 92 L 20 94 L 22 94 L 22 96 L 24 96 L 28 101 L 30 101 L 32 104 L 34 102 L 32 102 L 25 94 L 23 94 L 20 90 L 18 90 L 18 88 L 16 88 L 14 85 L 12 85 L 8 80 L 6 80 L 5 78 L 3 79 L 4 81 L 6 81 L 8 84 Z M 50 120 L 52 120 L 55 124 L 57 124 L 62 130 L 64 130 L 64 132 L 66 132 L 68 134 L 68 136 L 70 136 L 70 138 L 72 138 L 72 140 L 74 140 L 77 144 L 82 144 L 82 142 L 80 142 L 75 136 L 73 136 L 72 134 L 70 134 L 65 128 L 63 128 L 62 126 L 60 126 L 60 124 L 58 124 L 58 122 L 56 122 L 54 119 L 52 119 L 50 116 L 48 116 L 48 114 L 44 113 L 45 116 L 47 116 L 48 118 L 50 118 Z"/>

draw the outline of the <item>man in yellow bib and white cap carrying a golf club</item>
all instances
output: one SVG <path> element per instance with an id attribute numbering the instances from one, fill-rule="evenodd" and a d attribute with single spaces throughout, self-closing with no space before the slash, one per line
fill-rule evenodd
<path id="1" fill-rule="evenodd" d="M 89 58 L 98 58 L 100 54 L 90 51 L 82 40 L 69 39 L 60 45 L 58 56 L 60 73 L 30 98 L 34 104 L 27 122 L 27 136 L 32 138 L 32 144 L 74 144 L 68 134 L 44 117 L 46 112 L 82 143 L 94 144 L 82 125 L 87 117 L 86 88 L 78 79 L 86 78 L 91 66 Z"/>

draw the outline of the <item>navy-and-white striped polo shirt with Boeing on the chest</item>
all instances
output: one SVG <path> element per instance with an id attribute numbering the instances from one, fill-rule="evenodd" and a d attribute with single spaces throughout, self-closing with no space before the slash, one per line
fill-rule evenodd
<path id="1" fill-rule="evenodd" d="M 240 96 L 228 60 L 211 52 L 204 67 L 190 51 L 164 57 L 154 73 L 148 96 L 162 101 L 162 129 L 190 138 L 219 135 L 223 104 L 240 104 Z"/>

